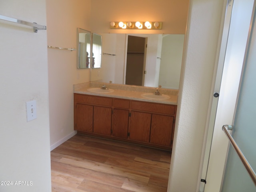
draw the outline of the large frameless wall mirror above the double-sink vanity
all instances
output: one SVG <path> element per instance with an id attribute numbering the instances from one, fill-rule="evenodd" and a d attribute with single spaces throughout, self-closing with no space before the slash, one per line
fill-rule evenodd
<path id="1" fill-rule="evenodd" d="M 99 35 L 101 68 L 92 68 L 91 81 L 179 88 L 184 34 Z"/>

